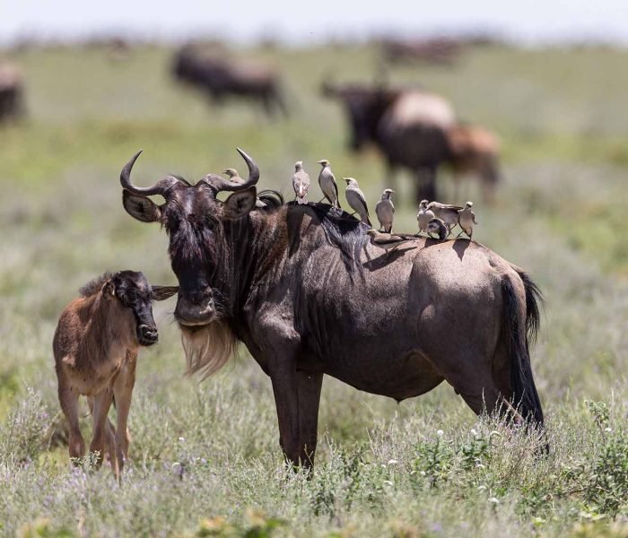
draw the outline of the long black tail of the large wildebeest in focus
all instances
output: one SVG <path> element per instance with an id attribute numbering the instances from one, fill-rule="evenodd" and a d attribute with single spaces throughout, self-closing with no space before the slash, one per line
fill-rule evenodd
<path id="1" fill-rule="evenodd" d="M 519 273 L 519 272 L 518 272 Z M 519 320 L 519 300 L 509 278 L 502 280 L 504 298 L 504 320 L 508 332 L 507 343 L 510 354 L 510 384 L 512 400 L 523 418 L 543 426 L 543 410 L 538 399 L 532 366 L 530 365 L 530 343 L 536 339 L 539 325 L 538 303 L 543 300 L 541 291 L 526 273 L 519 273 L 526 288 L 526 323 Z"/>

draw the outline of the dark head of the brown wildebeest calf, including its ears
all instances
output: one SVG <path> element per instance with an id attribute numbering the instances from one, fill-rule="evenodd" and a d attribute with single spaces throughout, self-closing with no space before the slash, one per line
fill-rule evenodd
<path id="1" fill-rule="evenodd" d="M 153 300 L 163 300 L 178 291 L 176 286 L 151 286 L 144 273 L 119 271 L 106 286 L 123 308 L 128 308 L 135 319 L 135 338 L 140 345 L 153 345 L 159 340 L 153 318 Z"/>

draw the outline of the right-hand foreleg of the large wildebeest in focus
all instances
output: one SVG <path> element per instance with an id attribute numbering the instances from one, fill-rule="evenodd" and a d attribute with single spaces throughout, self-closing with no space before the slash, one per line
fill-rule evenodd
<path id="1" fill-rule="evenodd" d="M 310 468 L 314 464 L 318 439 L 318 405 L 323 374 L 297 371 L 299 391 L 299 441 L 301 465 Z"/>

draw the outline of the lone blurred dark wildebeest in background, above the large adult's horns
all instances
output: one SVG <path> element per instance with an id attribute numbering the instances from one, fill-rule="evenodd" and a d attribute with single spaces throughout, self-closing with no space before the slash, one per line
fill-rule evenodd
<path id="1" fill-rule="evenodd" d="M 268 116 L 288 114 L 279 75 L 265 65 L 240 64 L 196 45 L 179 49 L 174 58 L 173 74 L 205 91 L 214 101 L 235 96 L 259 101 Z"/>

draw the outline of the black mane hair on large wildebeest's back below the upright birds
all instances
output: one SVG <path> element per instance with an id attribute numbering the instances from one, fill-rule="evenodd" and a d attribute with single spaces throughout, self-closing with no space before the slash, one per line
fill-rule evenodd
<path id="1" fill-rule="evenodd" d="M 296 204 L 289 202 L 288 205 Z M 340 256 L 349 274 L 361 272 L 360 251 L 371 241 L 366 233 L 371 227 L 345 211 L 336 213 L 328 204 L 308 204 L 308 207 L 318 217 L 327 243 L 340 250 Z"/>

